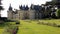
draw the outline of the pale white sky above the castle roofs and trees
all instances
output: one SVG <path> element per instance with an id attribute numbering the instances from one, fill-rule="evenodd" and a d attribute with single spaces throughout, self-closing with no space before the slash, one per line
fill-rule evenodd
<path id="1" fill-rule="evenodd" d="M 7 17 L 7 10 L 10 4 L 12 5 L 13 8 L 19 9 L 19 5 L 28 5 L 28 6 L 30 6 L 31 4 L 41 5 L 45 4 L 46 1 L 51 0 L 3 0 L 2 3 L 4 10 L 1 12 L 1 14 L 2 17 Z"/>

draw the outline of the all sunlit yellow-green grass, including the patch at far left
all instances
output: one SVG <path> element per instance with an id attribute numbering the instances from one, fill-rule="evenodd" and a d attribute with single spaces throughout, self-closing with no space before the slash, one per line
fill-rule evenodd
<path id="1" fill-rule="evenodd" d="M 20 20 L 19 30 L 17 34 L 60 34 L 60 28 L 37 24 L 38 22 L 60 24 L 60 19 L 52 20 Z M 16 25 L 15 22 L 6 22 L 0 24 L 0 34 L 10 34 L 5 32 L 6 27 Z"/>

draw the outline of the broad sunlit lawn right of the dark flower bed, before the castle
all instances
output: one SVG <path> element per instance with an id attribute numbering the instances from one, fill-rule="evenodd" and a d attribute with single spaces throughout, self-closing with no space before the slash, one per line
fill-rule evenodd
<path id="1" fill-rule="evenodd" d="M 42 22 L 56 22 L 59 24 L 59 20 L 40 20 Z M 37 24 L 37 21 L 26 22 L 20 21 L 19 30 L 17 34 L 60 34 L 60 28 Z"/>

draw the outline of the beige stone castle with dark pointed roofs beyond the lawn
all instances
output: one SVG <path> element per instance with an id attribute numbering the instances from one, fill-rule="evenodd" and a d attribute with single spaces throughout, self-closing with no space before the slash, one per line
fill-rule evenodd
<path id="1" fill-rule="evenodd" d="M 19 6 L 20 10 L 13 11 L 11 4 L 8 10 L 8 19 L 41 19 L 43 17 L 42 7 L 39 5 Z"/>

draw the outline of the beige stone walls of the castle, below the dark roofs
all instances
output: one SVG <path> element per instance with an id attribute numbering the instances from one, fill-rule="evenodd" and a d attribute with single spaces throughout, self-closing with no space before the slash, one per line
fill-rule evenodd
<path id="1" fill-rule="evenodd" d="M 34 10 L 18 10 L 16 14 L 13 11 L 8 11 L 9 19 L 35 19 L 35 11 Z"/>

